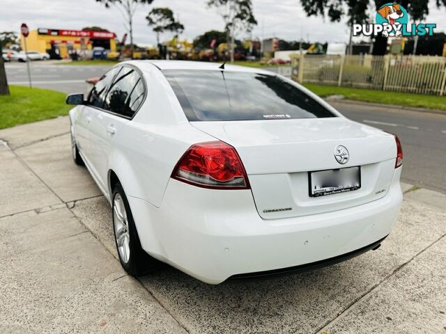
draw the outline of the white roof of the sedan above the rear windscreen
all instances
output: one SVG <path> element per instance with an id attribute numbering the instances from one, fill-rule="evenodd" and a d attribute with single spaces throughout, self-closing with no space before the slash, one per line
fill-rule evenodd
<path id="1" fill-rule="evenodd" d="M 140 67 L 144 70 L 146 66 L 155 65 L 160 70 L 221 70 L 222 63 L 209 63 L 203 61 L 130 61 L 129 63 Z M 229 63 L 224 65 L 225 70 L 236 72 L 251 72 L 273 74 L 270 71 L 262 70 L 258 67 L 246 67 L 231 65 Z"/>

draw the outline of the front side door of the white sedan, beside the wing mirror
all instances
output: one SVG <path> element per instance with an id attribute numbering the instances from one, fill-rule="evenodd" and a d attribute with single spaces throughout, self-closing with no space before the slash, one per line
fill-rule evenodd
<path id="1" fill-rule="evenodd" d="M 92 159 L 91 121 L 93 120 L 95 111 L 102 109 L 102 104 L 104 104 L 109 86 L 112 84 L 114 76 L 119 70 L 119 67 L 113 67 L 102 75 L 99 81 L 91 89 L 87 102 L 85 106 L 82 106 L 82 109 L 79 110 L 79 117 L 76 120 L 75 134 L 78 148 L 89 166 L 91 173 L 93 173 L 93 176 L 96 179 L 98 178 L 98 173 L 97 167 L 93 164 Z"/>

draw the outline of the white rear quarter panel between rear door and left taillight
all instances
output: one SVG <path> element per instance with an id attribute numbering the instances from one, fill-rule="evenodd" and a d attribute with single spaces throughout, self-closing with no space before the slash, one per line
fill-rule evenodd
<path id="1" fill-rule="evenodd" d="M 172 170 L 187 148 L 215 138 L 190 125 L 160 70 L 152 65 L 143 76 L 148 95 L 119 132 L 109 170 L 118 175 L 128 196 L 160 207 Z"/>

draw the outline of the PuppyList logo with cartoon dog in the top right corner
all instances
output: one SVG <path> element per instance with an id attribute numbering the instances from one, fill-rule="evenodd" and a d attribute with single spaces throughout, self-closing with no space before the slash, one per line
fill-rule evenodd
<path id="1" fill-rule="evenodd" d="M 431 36 L 436 26 L 435 23 L 410 24 L 406 8 L 389 2 L 376 10 L 375 24 L 353 24 L 353 36 Z"/>

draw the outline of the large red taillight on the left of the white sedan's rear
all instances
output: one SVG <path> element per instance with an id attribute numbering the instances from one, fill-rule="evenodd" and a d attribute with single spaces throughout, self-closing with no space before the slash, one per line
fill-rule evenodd
<path id="1" fill-rule="evenodd" d="M 171 177 L 210 189 L 249 189 L 242 161 L 231 145 L 210 141 L 192 145 Z"/>

